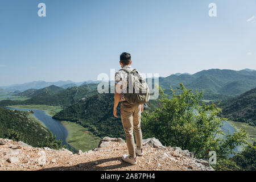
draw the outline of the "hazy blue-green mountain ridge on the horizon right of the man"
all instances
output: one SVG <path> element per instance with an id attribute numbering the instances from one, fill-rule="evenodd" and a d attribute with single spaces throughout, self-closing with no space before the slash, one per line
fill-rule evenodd
<path id="1" fill-rule="evenodd" d="M 233 71 L 229 69 L 209 69 L 197 72 L 193 75 L 177 74 L 168 77 L 160 77 L 159 85 L 170 92 L 182 82 L 185 87 L 193 90 L 204 90 L 204 99 L 223 100 L 255 88 L 256 71 L 243 69 Z"/>

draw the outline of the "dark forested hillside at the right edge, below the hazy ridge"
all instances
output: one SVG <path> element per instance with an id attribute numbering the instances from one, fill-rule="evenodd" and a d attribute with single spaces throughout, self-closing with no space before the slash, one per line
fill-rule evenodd
<path id="1" fill-rule="evenodd" d="M 218 106 L 222 108 L 224 117 L 256 125 L 256 88 L 241 94 L 241 96 L 224 100 Z"/>

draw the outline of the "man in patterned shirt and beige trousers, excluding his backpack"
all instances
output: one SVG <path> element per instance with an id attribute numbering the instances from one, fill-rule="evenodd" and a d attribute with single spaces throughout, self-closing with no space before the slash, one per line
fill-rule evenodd
<path id="1" fill-rule="evenodd" d="M 127 90 L 129 85 L 129 73 L 133 71 L 131 67 L 131 55 L 129 53 L 122 53 L 119 61 L 122 69 L 115 73 L 115 101 L 114 101 L 114 117 L 117 117 L 117 106 L 121 102 L 121 119 L 123 129 L 125 130 L 125 138 L 129 155 L 124 154 L 122 159 L 130 164 L 137 164 L 136 154 L 143 155 L 142 151 L 142 131 L 141 131 L 141 113 L 143 112 L 143 104 L 130 104 L 126 101 L 124 90 Z M 127 71 L 125 71 L 125 70 Z M 142 78 L 141 73 L 139 77 Z M 133 129 L 135 131 L 136 147 L 134 144 Z"/>

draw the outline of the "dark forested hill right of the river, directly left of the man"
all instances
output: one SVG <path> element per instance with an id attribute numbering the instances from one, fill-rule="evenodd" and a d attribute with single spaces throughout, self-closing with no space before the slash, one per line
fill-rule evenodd
<path id="1" fill-rule="evenodd" d="M 114 94 L 96 94 L 67 107 L 53 118 L 80 123 L 99 137 L 124 137 L 121 119 L 113 116 L 113 103 Z"/>

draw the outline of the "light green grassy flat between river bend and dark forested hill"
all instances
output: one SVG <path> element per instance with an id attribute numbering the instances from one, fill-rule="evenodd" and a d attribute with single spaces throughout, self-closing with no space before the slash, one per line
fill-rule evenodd
<path id="1" fill-rule="evenodd" d="M 100 137 L 95 137 L 88 129 L 74 122 L 61 121 L 68 130 L 67 142 L 83 152 L 98 147 Z"/>

